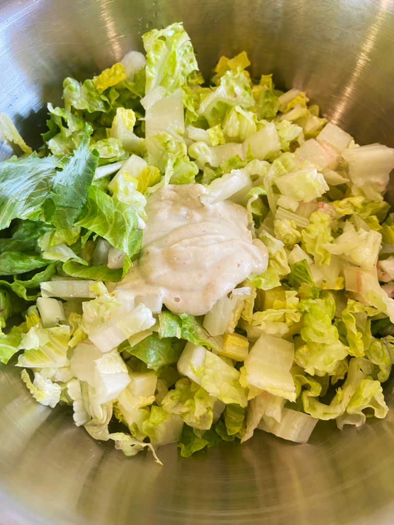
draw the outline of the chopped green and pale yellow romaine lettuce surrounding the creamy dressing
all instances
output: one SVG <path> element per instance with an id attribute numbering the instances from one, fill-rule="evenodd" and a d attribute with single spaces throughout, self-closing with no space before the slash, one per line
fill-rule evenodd
<path id="1" fill-rule="evenodd" d="M 187 457 L 256 428 L 306 443 L 319 419 L 385 417 L 394 150 L 251 78 L 246 53 L 204 84 L 181 23 L 142 38 L 146 56 L 66 78 L 39 150 L 0 115 L 18 154 L 0 163 L 0 361 L 93 438 L 159 463 L 167 443 Z M 201 318 L 122 303 L 108 283 L 141 253 L 147 199 L 190 183 L 206 206 L 246 208 L 267 271 Z"/>

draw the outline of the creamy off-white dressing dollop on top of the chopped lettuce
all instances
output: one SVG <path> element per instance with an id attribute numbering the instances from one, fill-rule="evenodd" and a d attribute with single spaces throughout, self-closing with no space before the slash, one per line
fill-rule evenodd
<path id="1" fill-rule="evenodd" d="M 115 297 L 159 293 L 172 312 L 199 316 L 251 273 L 267 269 L 267 249 L 252 241 L 246 209 L 230 201 L 203 205 L 190 196 L 193 186 L 170 184 L 148 198 L 142 254 Z"/>

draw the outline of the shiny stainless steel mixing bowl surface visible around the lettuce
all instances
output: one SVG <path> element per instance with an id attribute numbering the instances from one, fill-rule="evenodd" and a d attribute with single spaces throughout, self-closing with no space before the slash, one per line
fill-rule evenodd
<path id="1" fill-rule="evenodd" d="M 153 27 L 183 20 L 203 72 L 245 49 L 253 74 L 307 91 L 365 144 L 394 146 L 392 0 L 2 0 L 0 111 L 39 145 L 45 103 L 141 49 Z M 0 157 L 11 153 L 2 146 Z M 0 366 L 2 525 L 389 525 L 394 523 L 394 395 L 361 429 L 319 422 L 309 444 L 256 432 L 184 459 L 126 458 L 35 403 Z"/>

